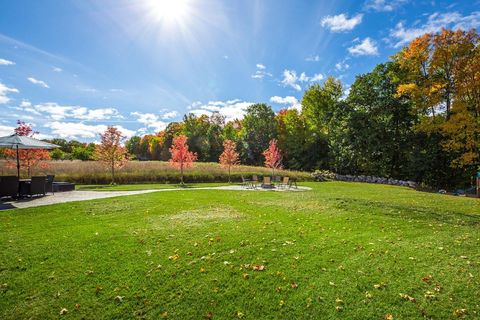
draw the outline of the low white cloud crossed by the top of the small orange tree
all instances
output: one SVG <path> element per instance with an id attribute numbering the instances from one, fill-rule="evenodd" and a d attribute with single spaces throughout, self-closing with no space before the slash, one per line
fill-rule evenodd
<path id="1" fill-rule="evenodd" d="M 64 139 L 87 138 L 92 139 L 98 137 L 107 130 L 104 124 L 88 125 L 82 122 L 59 122 L 54 121 L 45 124 L 46 128 L 50 128 L 52 135 Z M 122 126 L 115 126 L 124 136 L 130 138 L 135 131 L 128 130 Z"/>

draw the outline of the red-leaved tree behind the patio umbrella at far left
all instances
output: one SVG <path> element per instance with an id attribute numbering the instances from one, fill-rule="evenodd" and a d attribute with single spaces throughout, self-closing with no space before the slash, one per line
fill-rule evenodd
<path id="1" fill-rule="evenodd" d="M 15 133 L 20 136 L 33 137 L 38 132 L 33 131 L 32 126 L 18 120 L 18 127 L 15 128 Z M 17 150 L 5 150 L 7 156 L 7 166 L 15 168 L 17 166 Z M 18 150 L 18 158 L 20 160 L 20 167 L 27 169 L 27 176 L 30 176 L 32 168 L 39 166 L 42 169 L 48 168 L 48 163 L 43 160 L 50 159 L 50 153 L 44 149 L 24 149 Z"/>

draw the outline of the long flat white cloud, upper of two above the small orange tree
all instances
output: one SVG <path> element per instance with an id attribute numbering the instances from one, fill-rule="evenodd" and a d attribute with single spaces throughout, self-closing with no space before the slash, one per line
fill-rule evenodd
<path id="1" fill-rule="evenodd" d="M 36 115 L 45 115 L 52 120 L 77 119 L 86 121 L 108 120 L 122 118 L 115 108 L 90 109 L 81 106 L 62 106 L 56 102 L 40 103 L 32 106 L 29 101 L 22 101 L 23 110 Z"/>

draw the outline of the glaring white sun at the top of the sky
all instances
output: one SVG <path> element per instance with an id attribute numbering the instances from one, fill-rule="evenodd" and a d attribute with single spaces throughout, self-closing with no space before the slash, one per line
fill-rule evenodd
<path id="1" fill-rule="evenodd" d="M 188 0 L 149 0 L 151 16 L 162 22 L 181 22 L 188 13 Z"/>

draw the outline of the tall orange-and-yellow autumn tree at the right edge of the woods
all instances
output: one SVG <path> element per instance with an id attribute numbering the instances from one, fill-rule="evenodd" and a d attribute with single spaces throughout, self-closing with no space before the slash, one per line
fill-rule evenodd
<path id="1" fill-rule="evenodd" d="M 395 59 L 405 71 L 397 95 L 410 97 L 422 113 L 417 129 L 439 136 L 450 166 L 475 170 L 480 160 L 478 33 L 442 29 L 426 34 Z"/>

